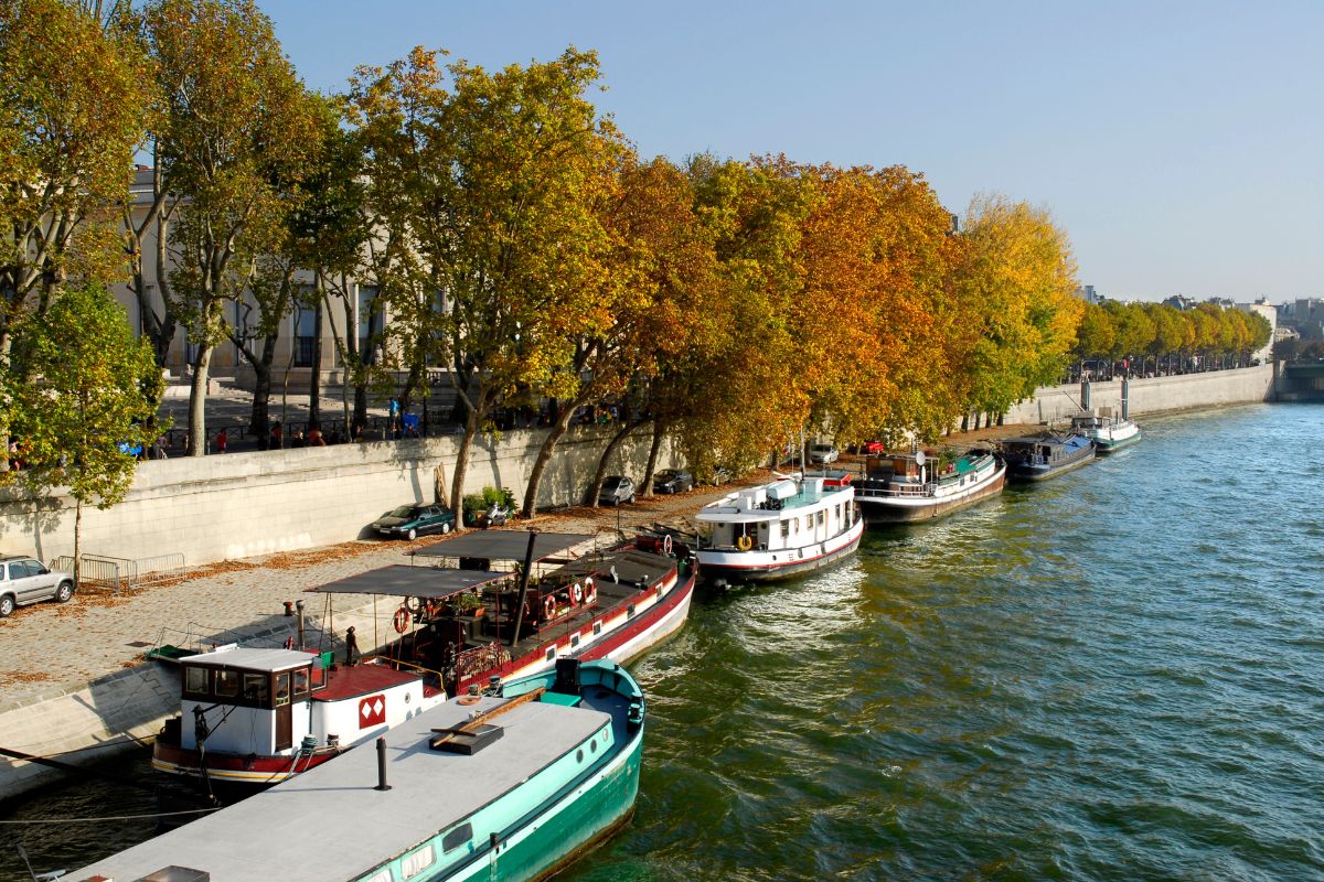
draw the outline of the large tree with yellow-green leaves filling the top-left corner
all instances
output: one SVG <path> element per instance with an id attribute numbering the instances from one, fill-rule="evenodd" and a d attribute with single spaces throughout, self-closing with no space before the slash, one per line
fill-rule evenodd
<path id="1" fill-rule="evenodd" d="M 66 278 L 122 270 L 107 209 L 127 198 L 142 138 L 140 67 L 118 13 L 0 0 L 0 368 L 12 328 L 40 317 Z"/>

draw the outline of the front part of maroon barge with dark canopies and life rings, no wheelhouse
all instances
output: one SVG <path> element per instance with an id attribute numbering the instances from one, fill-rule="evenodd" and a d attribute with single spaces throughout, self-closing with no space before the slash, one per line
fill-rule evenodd
<path id="1" fill-rule="evenodd" d="M 396 635 L 369 660 L 430 672 L 451 696 L 564 657 L 625 664 L 685 624 L 695 567 L 679 546 L 646 540 L 569 554 L 592 538 L 466 533 L 413 553 L 454 567 L 380 567 L 312 591 L 399 598 Z"/>

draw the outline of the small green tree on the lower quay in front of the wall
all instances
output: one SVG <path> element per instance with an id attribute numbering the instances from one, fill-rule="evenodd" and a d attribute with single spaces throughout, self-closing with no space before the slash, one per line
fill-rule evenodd
<path id="1" fill-rule="evenodd" d="M 4 377 L 9 417 L 23 431 L 26 473 L 38 485 L 68 485 L 75 500 L 77 582 L 82 506 L 106 509 L 128 492 L 136 460 L 127 451 L 168 428 L 152 422 L 164 381 L 150 342 L 95 286 L 65 290 L 19 333 L 25 364 Z"/>

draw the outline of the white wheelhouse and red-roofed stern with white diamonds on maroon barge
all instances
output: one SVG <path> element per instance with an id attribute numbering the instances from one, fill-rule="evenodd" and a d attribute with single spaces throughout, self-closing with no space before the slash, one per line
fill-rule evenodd
<path id="1" fill-rule="evenodd" d="M 275 784 L 446 698 L 420 672 L 338 666 L 331 653 L 229 645 L 179 665 L 180 715 L 156 737 L 152 767 L 208 789 Z"/>

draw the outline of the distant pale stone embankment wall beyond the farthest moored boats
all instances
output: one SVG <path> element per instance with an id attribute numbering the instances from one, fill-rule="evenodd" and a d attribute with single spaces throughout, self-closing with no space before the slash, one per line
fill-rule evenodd
<path id="1" fill-rule="evenodd" d="M 1197 410 L 1247 405 L 1274 397 L 1274 366 L 1211 370 L 1201 374 L 1152 377 L 1131 381 L 1128 411 L 1132 417 L 1170 410 Z M 1121 381 L 1090 383 L 1090 405 L 1121 413 Z M 1080 383 L 1041 389 L 1030 401 L 1006 414 L 1008 423 L 1066 422 L 1080 411 Z"/>

